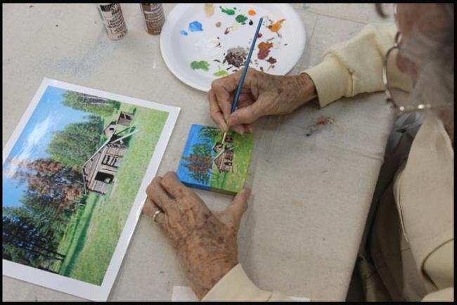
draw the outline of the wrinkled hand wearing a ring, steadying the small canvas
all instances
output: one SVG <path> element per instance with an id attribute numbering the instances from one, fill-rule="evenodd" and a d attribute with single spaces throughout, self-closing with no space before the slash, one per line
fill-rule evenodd
<path id="1" fill-rule="evenodd" d="M 146 189 L 143 213 L 153 217 L 167 233 L 193 292 L 202 299 L 238 264 L 236 235 L 247 209 L 250 189 L 238 193 L 223 212 L 208 209 L 193 190 L 172 171 L 157 176 Z"/>

